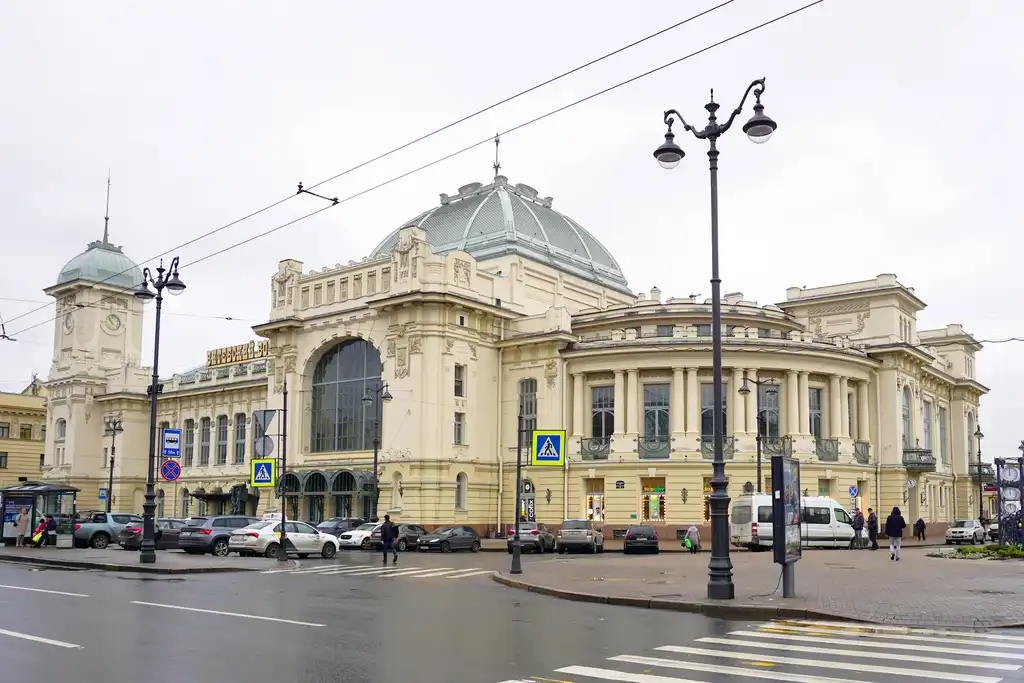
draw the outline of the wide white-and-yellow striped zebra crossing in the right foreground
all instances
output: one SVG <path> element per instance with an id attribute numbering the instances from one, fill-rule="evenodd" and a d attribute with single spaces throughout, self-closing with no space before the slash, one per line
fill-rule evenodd
<path id="1" fill-rule="evenodd" d="M 1024 635 L 779 620 L 502 683 L 1009 683 L 1021 668 Z"/>

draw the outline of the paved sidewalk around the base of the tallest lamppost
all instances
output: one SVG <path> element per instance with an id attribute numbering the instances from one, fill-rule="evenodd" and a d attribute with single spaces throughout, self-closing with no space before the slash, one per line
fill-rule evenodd
<path id="1" fill-rule="evenodd" d="M 909 545 L 909 544 L 907 544 Z M 807 551 L 796 598 L 784 600 L 771 553 L 732 554 L 736 597 L 707 598 L 708 553 L 567 556 L 530 562 L 495 581 L 568 600 L 700 612 L 723 618 L 852 620 L 899 626 L 1024 627 L 1024 563 L 954 560 L 904 552 Z M 777 590 L 776 590 L 777 589 Z"/>

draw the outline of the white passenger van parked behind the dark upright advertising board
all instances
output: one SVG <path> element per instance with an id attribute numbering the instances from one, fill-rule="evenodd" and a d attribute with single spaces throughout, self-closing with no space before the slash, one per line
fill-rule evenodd
<path id="1" fill-rule="evenodd" d="M 830 498 L 804 497 L 800 536 L 805 548 L 846 548 L 853 540 L 853 519 Z M 732 503 L 732 545 L 771 550 L 772 506 L 769 494 L 744 494 Z"/>

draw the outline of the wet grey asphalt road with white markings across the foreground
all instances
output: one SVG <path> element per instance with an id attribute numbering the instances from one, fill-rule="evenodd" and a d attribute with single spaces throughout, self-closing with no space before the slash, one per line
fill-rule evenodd
<path id="1" fill-rule="evenodd" d="M 273 573 L 181 578 L 0 563 L 2 679 L 1021 680 L 1021 631 L 1000 640 L 726 622 L 565 602 L 474 573 L 507 559 L 407 554 L 384 570 L 378 556 L 356 553 Z M 528 558 L 527 571 L 529 561 L 552 560 Z"/>

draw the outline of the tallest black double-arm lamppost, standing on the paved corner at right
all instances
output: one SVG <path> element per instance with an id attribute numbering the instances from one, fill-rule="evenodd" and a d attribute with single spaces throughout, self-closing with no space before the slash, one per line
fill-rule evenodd
<path id="1" fill-rule="evenodd" d="M 718 122 L 716 113 L 720 104 L 715 101 L 715 91 L 711 92 L 711 101 L 705 104 L 708 110 L 708 125 L 703 130 L 697 130 L 686 123 L 676 110 L 665 113 L 665 124 L 669 127 L 665 134 L 665 142 L 654 151 L 654 157 L 663 168 L 673 169 L 683 160 L 682 148 L 675 142 L 672 125 L 676 119 L 683 124 L 683 129 L 693 133 L 698 140 L 708 140 L 710 148 L 708 159 L 711 161 L 711 330 L 712 330 L 712 367 L 714 372 L 714 441 L 715 459 L 711 479 L 711 561 L 708 564 L 708 597 L 716 600 L 731 600 L 736 589 L 732 583 L 732 560 L 729 559 L 729 480 L 725 477 L 725 453 L 723 449 L 725 425 L 723 424 L 723 391 L 722 391 L 722 281 L 718 273 L 718 138 L 722 136 L 742 112 L 743 104 L 751 91 L 757 102 L 754 104 L 754 116 L 743 124 L 743 132 L 753 142 L 767 142 L 775 132 L 776 124 L 764 113 L 761 95 L 765 91 L 765 79 L 754 81 L 746 87 L 743 98 L 729 119 L 723 124 Z"/>

